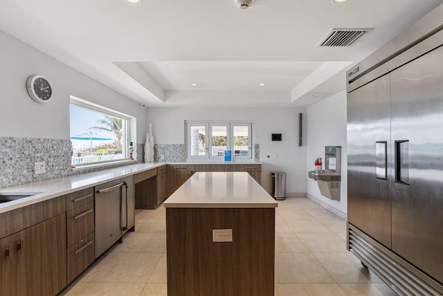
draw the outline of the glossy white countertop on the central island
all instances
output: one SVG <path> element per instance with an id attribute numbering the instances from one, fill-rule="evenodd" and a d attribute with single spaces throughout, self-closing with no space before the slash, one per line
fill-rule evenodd
<path id="1" fill-rule="evenodd" d="M 197 172 L 163 207 L 275 208 L 278 203 L 246 172 Z"/>

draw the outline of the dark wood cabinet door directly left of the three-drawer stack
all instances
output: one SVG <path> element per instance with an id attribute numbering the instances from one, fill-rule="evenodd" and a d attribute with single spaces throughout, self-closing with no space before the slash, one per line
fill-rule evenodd
<path id="1" fill-rule="evenodd" d="M 66 286 L 66 214 L 21 233 L 26 295 L 56 295 Z"/>

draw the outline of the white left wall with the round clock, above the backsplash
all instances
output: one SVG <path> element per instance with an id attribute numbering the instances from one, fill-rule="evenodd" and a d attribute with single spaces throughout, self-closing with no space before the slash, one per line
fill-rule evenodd
<path id="1" fill-rule="evenodd" d="M 0 137 L 69 139 L 69 96 L 73 95 L 136 117 L 136 139 L 131 141 L 145 142 L 145 108 L 3 31 L 0 69 Z M 37 103 L 28 96 L 26 80 L 32 74 L 51 82 L 51 102 Z"/>

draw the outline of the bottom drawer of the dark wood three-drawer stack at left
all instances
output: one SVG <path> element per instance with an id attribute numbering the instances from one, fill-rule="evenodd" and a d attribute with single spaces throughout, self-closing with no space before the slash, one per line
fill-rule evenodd
<path id="1" fill-rule="evenodd" d="M 94 261 L 94 233 L 68 248 L 68 284 Z"/>

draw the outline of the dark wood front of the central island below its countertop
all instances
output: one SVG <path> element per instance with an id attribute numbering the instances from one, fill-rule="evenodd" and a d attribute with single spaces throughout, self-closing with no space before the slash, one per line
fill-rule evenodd
<path id="1" fill-rule="evenodd" d="M 166 237 L 169 296 L 274 295 L 275 209 L 168 207 Z"/>

